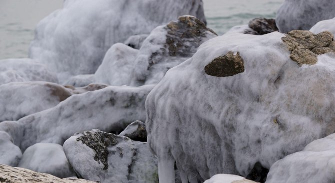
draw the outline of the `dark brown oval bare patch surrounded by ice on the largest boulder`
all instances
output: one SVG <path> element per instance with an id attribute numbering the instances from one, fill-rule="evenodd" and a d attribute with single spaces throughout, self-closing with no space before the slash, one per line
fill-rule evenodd
<path id="1" fill-rule="evenodd" d="M 233 76 L 238 73 L 244 72 L 244 63 L 239 52 L 234 55 L 229 51 L 224 56 L 214 58 L 208 65 L 204 67 L 206 74 L 216 77 Z"/>

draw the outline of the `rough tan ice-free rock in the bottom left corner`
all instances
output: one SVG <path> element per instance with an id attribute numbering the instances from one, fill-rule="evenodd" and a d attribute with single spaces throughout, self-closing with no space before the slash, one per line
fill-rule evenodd
<path id="1" fill-rule="evenodd" d="M 0 165 L 1 183 L 94 183 L 83 179 L 59 179 L 23 168 Z"/>

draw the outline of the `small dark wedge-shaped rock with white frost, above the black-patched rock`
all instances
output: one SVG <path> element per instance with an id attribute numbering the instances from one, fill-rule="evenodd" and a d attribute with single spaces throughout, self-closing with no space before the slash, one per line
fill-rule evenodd
<path id="1" fill-rule="evenodd" d="M 128 137 L 134 141 L 146 142 L 146 130 L 145 123 L 141 121 L 132 122 L 127 128 L 125 128 L 120 134 L 120 136 Z"/>

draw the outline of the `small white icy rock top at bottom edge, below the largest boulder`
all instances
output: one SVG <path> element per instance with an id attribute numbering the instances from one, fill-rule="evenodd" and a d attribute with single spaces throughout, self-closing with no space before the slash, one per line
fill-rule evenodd
<path id="1" fill-rule="evenodd" d="M 229 175 L 229 174 L 217 174 L 204 183 L 255 183 L 250 180 L 246 180 L 243 177 Z"/>

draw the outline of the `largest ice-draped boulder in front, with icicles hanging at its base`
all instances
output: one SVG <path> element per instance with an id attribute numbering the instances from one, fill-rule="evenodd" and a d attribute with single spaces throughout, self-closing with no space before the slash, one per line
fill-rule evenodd
<path id="1" fill-rule="evenodd" d="M 257 162 L 269 169 L 335 130 L 333 53 L 300 66 L 283 36 L 219 36 L 167 71 L 145 102 L 161 183 L 172 182 L 174 161 L 204 180 L 246 176 Z"/>

